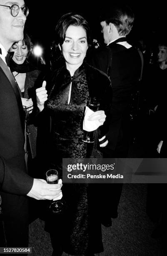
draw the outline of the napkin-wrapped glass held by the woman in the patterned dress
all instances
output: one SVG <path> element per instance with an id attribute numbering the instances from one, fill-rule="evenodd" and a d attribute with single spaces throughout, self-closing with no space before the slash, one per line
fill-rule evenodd
<path id="1" fill-rule="evenodd" d="M 96 97 L 90 97 L 88 107 L 94 112 L 96 112 L 97 110 L 99 110 L 99 106 L 100 106 L 99 100 L 97 100 Z M 90 132 L 84 131 L 82 141 L 86 143 L 93 143 L 95 141 L 94 137 L 95 137 L 95 131 L 90 131 Z"/>

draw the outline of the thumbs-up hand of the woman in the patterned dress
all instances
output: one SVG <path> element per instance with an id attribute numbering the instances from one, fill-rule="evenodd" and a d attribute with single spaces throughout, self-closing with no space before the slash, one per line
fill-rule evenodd
<path id="1" fill-rule="evenodd" d="M 44 109 L 44 103 L 47 100 L 46 81 L 43 81 L 42 87 L 36 89 L 37 107 L 40 112 Z"/>

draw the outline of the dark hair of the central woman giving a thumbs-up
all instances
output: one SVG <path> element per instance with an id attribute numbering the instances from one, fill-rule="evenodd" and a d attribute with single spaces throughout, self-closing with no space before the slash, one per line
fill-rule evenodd
<path id="1" fill-rule="evenodd" d="M 60 44 L 62 46 L 63 42 L 65 41 L 65 36 L 67 32 L 67 28 L 69 26 L 81 26 L 85 29 L 87 33 L 87 43 L 88 45 L 91 44 L 91 34 L 90 34 L 90 27 L 81 15 L 76 13 L 67 13 L 63 15 L 60 20 L 57 22 L 55 31 L 56 31 L 56 40 L 55 44 Z"/>

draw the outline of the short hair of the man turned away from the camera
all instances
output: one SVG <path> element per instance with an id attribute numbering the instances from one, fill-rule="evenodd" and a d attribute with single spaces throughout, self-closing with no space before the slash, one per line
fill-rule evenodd
<path id="1" fill-rule="evenodd" d="M 127 36 L 133 26 L 134 13 L 129 6 L 113 6 L 110 12 L 107 11 L 100 18 L 107 25 L 113 23 L 117 28 L 119 36 Z"/>

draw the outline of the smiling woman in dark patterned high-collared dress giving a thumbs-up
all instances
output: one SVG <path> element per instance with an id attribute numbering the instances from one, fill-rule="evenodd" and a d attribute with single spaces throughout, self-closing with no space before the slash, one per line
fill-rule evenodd
<path id="1" fill-rule="evenodd" d="M 97 97 L 100 108 L 109 110 L 112 95 L 107 75 L 84 61 L 91 42 L 87 21 L 77 14 L 63 15 L 57 23 L 56 36 L 55 45 L 64 64 L 52 72 L 51 82 L 47 82 L 51 88 L 48 100 L 45 82 L 43 87 L 36 90 L 36 94 L 42 127 L 44 118 L 51 117 L 51 121 L 48 118 L 48 123 L 52 124 L 48 129 L 51 131 L 50 143 L 45 144 L 45 148 L 47 147 L 47 151 L 52 149 L 48 154 L 50 163 L 58 170 L 59 176 L 62 176 L 62 158 L 85 158 L 91 155 L 92 146 L 82 141 L 82 116 L 87 100 Z M 101 137 L 105 137 L 106 129 L 103 125 L 104 110 L 98 110 L 89 118 L 92 123 L 99 120 Z M 39 141 L 45 140 L 45 136 Z M 48 138 L 45 143 L 47 141 Z M 45 158 L 46 161 L 46 154 L 45 151 L 41 159 Z M 46 230 L 50 232 L 54 249 L 53 255 L 62 255 L 65 251 L 72 255 L 91 256 L 103 251 L 96 203 L 98 196 L 93 193 L 95 194 L 95 187 L 90 184 L 63 184 L 62 215 L 50 216 L 46 221 Z"/>

